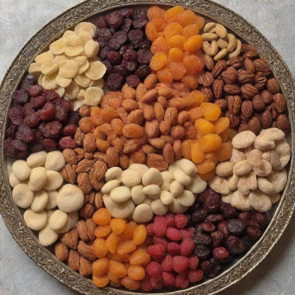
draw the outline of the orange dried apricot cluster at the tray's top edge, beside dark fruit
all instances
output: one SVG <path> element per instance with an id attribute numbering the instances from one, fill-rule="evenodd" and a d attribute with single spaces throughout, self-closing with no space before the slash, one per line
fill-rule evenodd
<path id="1" fill-rule="evenodd" d="M 204 26 L 204 18 L 181 6 L 164 11 L 158 6 L 148 10 L 149 22 L 145 34 L 153 41 L 154 54 L 150 68 L 155 71 L 160 82 L 172 83 L 181 80 L 190 89 L 196 89 L 196 77 L 205 65 L 203 45 L 199 30 Z"/>

